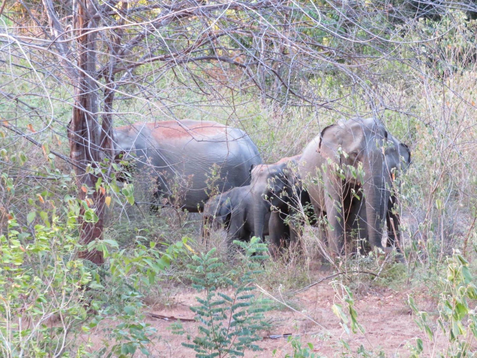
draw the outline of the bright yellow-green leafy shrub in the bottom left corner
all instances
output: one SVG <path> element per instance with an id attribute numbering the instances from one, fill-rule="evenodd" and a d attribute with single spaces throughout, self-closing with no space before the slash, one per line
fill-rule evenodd
<path id="1" fill-rule="evenodd" d="M 75 259 L 71 221 L 32 233 L 18 226 L 12 218 L 0 236 L 0 356 L 61 356 L 88 317 L 83 300 L 93 277 Z"/>

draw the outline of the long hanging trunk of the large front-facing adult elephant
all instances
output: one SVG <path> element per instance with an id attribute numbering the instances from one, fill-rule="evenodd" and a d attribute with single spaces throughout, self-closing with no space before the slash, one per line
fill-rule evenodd
<path id="1" fill-rule="evenodd" d="M 386 189 L 382 174 L 371 177 L 363 186 L 366 197 L 366 219 L 368 221 L 368 238 L 371 249 L 379 247 L 383 237 L 383 220 L 386 215 L 389 190 Z"/>

